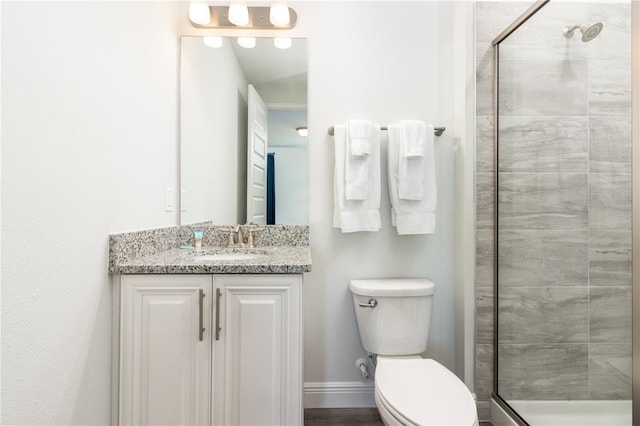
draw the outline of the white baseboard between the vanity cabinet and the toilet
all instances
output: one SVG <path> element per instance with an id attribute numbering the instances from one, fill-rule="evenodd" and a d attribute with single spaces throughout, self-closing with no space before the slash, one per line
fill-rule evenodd
<path id="1" fill-rule="evenodd" d="M 373 387 L 362 382 L 308 382 L 304 408 L 375 407 Z"/>

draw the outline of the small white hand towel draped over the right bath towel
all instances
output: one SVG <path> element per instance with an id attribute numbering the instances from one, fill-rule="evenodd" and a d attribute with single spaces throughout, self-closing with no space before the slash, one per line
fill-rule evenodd
<path id="1" fill-rule="evenodd" d="M 421 200 L 428 161 L 425 154 L 428 145 L 433 145 L 433 126 L 415 120 L 402 120 L 400 126 L 398 196 L 403 200 Z"/>

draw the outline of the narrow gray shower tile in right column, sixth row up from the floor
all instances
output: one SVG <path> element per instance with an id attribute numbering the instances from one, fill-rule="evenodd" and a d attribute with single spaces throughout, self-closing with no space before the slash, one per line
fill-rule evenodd
<path id="1" fill-rule="evenodd" d="M 589 114 L 631 116 L 631 60 L 589 60 Z"/>

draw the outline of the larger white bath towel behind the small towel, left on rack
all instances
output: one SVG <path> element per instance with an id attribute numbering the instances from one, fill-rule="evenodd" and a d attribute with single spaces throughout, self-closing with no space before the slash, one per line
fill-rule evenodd
<path id="1" fill-rule="evenodd" d="M 372 126 L 368 167 L 368 195 L 364 200 L 348 200 L 345 194 L 345 166 L 347 155 L 347 126 L 334 126 L 334 211 L 333 226 L 342 232 L 377 232 L 380 221 L 380 126 Z"/>

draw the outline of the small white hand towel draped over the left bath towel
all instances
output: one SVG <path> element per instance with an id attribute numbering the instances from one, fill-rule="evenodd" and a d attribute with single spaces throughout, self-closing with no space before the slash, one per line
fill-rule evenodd
<path id="1" fill-rule="evenodd" d="M 366 200 L 369 195 L 372 124 L 367 120 L 349 120 L 347 128 L 345 195 L 347 200 Z"/>

